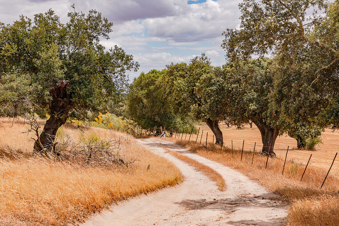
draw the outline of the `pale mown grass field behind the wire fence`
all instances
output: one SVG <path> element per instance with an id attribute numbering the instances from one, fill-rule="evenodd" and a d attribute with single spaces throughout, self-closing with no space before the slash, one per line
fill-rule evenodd
<path id="1" fill-rule="evenodd" d="M 206 132 L 208 132 L 208 142 L 212 142 L 213 133 L 206 125 L 197 125 L 197 128 L 200 127 L 200 132 L 198 135 L 198 143 L 200 143 L 201 131 L 203 130 L 201 144 L 205 144 L 206 141 Z M 250 128 L 250 125 L 246 125 L 243 129 L 236 129 L 234 126 L 227 128 L 227 125 L 220 125 L 220 129 L 223 133 L 224 146 L 227 148 L 232 147 L 231 141 L 233 140 L 233 148 L 241 149 L 243 140 L 244 150 L 253 151 L 254 143 L 256 142 L 256 151 L 260 152 L 262 149 L 261 135 L 258 128 L 253 124 L 253 128 Z M 180 135 L 181 137 L 181 135 Z M 183 135 L 184 139 L 185 135 Z M 188 139 L 189 134 L 186 139 Z M 330 167 L 333 158 L 336 152 L 339 152 L 339 131 L 334 131 L 326 129 L 322 133 L 322 143 L 316 146 L 315 151 L 308 150 L 298 150 L 297 141 L 287 135 L 279 136 L 274 145 L 274 152 L 277 154 L 278 158 L 285 158 L 287 147 L 290 146 L 287 159 L 293 160 L 297 163 L 306 163 L 308 158 L 312 154 L 309 167 L 322 168 L 323 170 L 328 170 Z M 196 140 L 197 135 L 192 134 L 191 140 Z M 339 175 L 339 155 L 334 162 L 334 165 L 331 169 L 331 174 Z"/>

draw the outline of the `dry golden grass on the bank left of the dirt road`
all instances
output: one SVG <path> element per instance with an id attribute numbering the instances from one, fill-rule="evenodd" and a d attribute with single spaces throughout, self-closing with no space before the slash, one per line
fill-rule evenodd
<path id="1" fill-rule="evenodd" d="M 66 225 L 82 221 L 91 212 L 119 200 L 172 186 L 182 179 L 172 163 L 147 151 L 124 133 L 83 128 L 85 134 L 120 138 L 121 156 L 140 160 L 128 168 L 107 169 L 31 156 L 31 134 L 21 133 L 27 125 L 19 120 L 11 126 L 12 121 L 1 119 L 0 149 L 21 150 L 21 156 L 0 158 L 0 224 Z M 74 138 L 82 134 L 73 126 L 65 126 L 63 131 Z"/>

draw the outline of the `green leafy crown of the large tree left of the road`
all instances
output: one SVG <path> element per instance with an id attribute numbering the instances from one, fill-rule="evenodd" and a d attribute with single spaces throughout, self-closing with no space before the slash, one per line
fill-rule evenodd
<path id="1" fill-rule="evenodd" d="M 122 95 L 128 86 L 125 72 L 136 71 L 139 64 L 118 46 L 105 50 L 100 44 L 113 25 L 101 13 L 91 10 L 85 15 L 72 7 L 65 24 L 52 10 L 33 20 L 21 16 L 13 24 L 0 24 L 1 99 L 27 97 L 48 108 L 49 91 L 64 79 L 70 81 L 69 114 L 80 117 L 76 113 L 85 115 L 107 98 Z"/>

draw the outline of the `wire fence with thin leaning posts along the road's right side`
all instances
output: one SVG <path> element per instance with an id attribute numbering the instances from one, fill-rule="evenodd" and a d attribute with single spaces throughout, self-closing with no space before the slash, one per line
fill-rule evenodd
<path id="1" fill-rule="evenodd" d="M 144 130 L 140 127 L 134 129 L 134 135 L 138 136 L 158 136 L 158 137 L 173 137 L 176 139 L 191 141 L 203 146 L 205 148 L 220 149 L 220 152 L 232 151 L 232 156 L 239 155 L 240 161 L 248 156 L 252 156 L 252 159 L 249 159 L 249 162 L 263 161 L 262 165 L 267 167 L 269 162 L 269 156 L 272 156 L 274 151 L 277 159 L 280 159 L 281 163 L 281 173 L 289 172 L 296 175 L 301 175 L 300 180 L 303 178 L 305 180 L 305 175 L 307 175 L 307 180 L 315 180 L 323 178 L 323 183 L 321 187 L 327 181 L 328 184 L 339 182 L 339 156 L 337 154 L 332 158 L 321 156 L 317 153 L 307 153 L 303 150 L 292 150 L 289 147 L 284 148 L 274 148 L 274 145 L 264 146 L 260 142 L 248 143 L 246 140 L 241 139 L 225 139 L 223 137 L 217 137 L 211 131 L 204 131 L 198 129 L 196 132 L 193 128 L 184 128 L 184 129 L 165 129 L 162 127 L 154 128 L 154 130 Z M 212 140 L 212 142 L 211 142 Z M 216 144 L 217 140 L 222 143 L 222 145 Z M 262 152 L 263 148 L 268 148 L 268 153 Z M 288 150 L 289 149 L 289 150 Z M 269 153 L 271 152 L 271 153 Z M 251 154 L 252 153 L 252 154 Z M 259 157 L 258 157 L 259 156 Z M 266 158 L 267 156 L 267 158 Z M 248 159 L 247 159 L 248 160 Z M 252 161 L 251 161 L 252 160 Z M 286 162 L 287 160 L 287 162 Z M 288 166 L 286 165 L 288 163 Z"/>

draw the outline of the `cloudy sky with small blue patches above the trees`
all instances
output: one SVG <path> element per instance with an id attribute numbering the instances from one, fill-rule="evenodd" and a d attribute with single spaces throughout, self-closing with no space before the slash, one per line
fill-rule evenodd
<path id="1" fill-rule="evenodd" d="M 239 27 L 240 0 L 0 0 L 0 22 L 13 23 L 19 15 L 33 18 L 49 8 L 67 21 L 74 3 L 84 13 L 96 9 L 110 22 L 113 32 L 102 44 L 118 45 L 139 62 L 138 72 L 161 70 L 171 62 L 188 62 L 201 52 L 213 65 L 225 62 L 220 47 L 227 28 Z"/>

